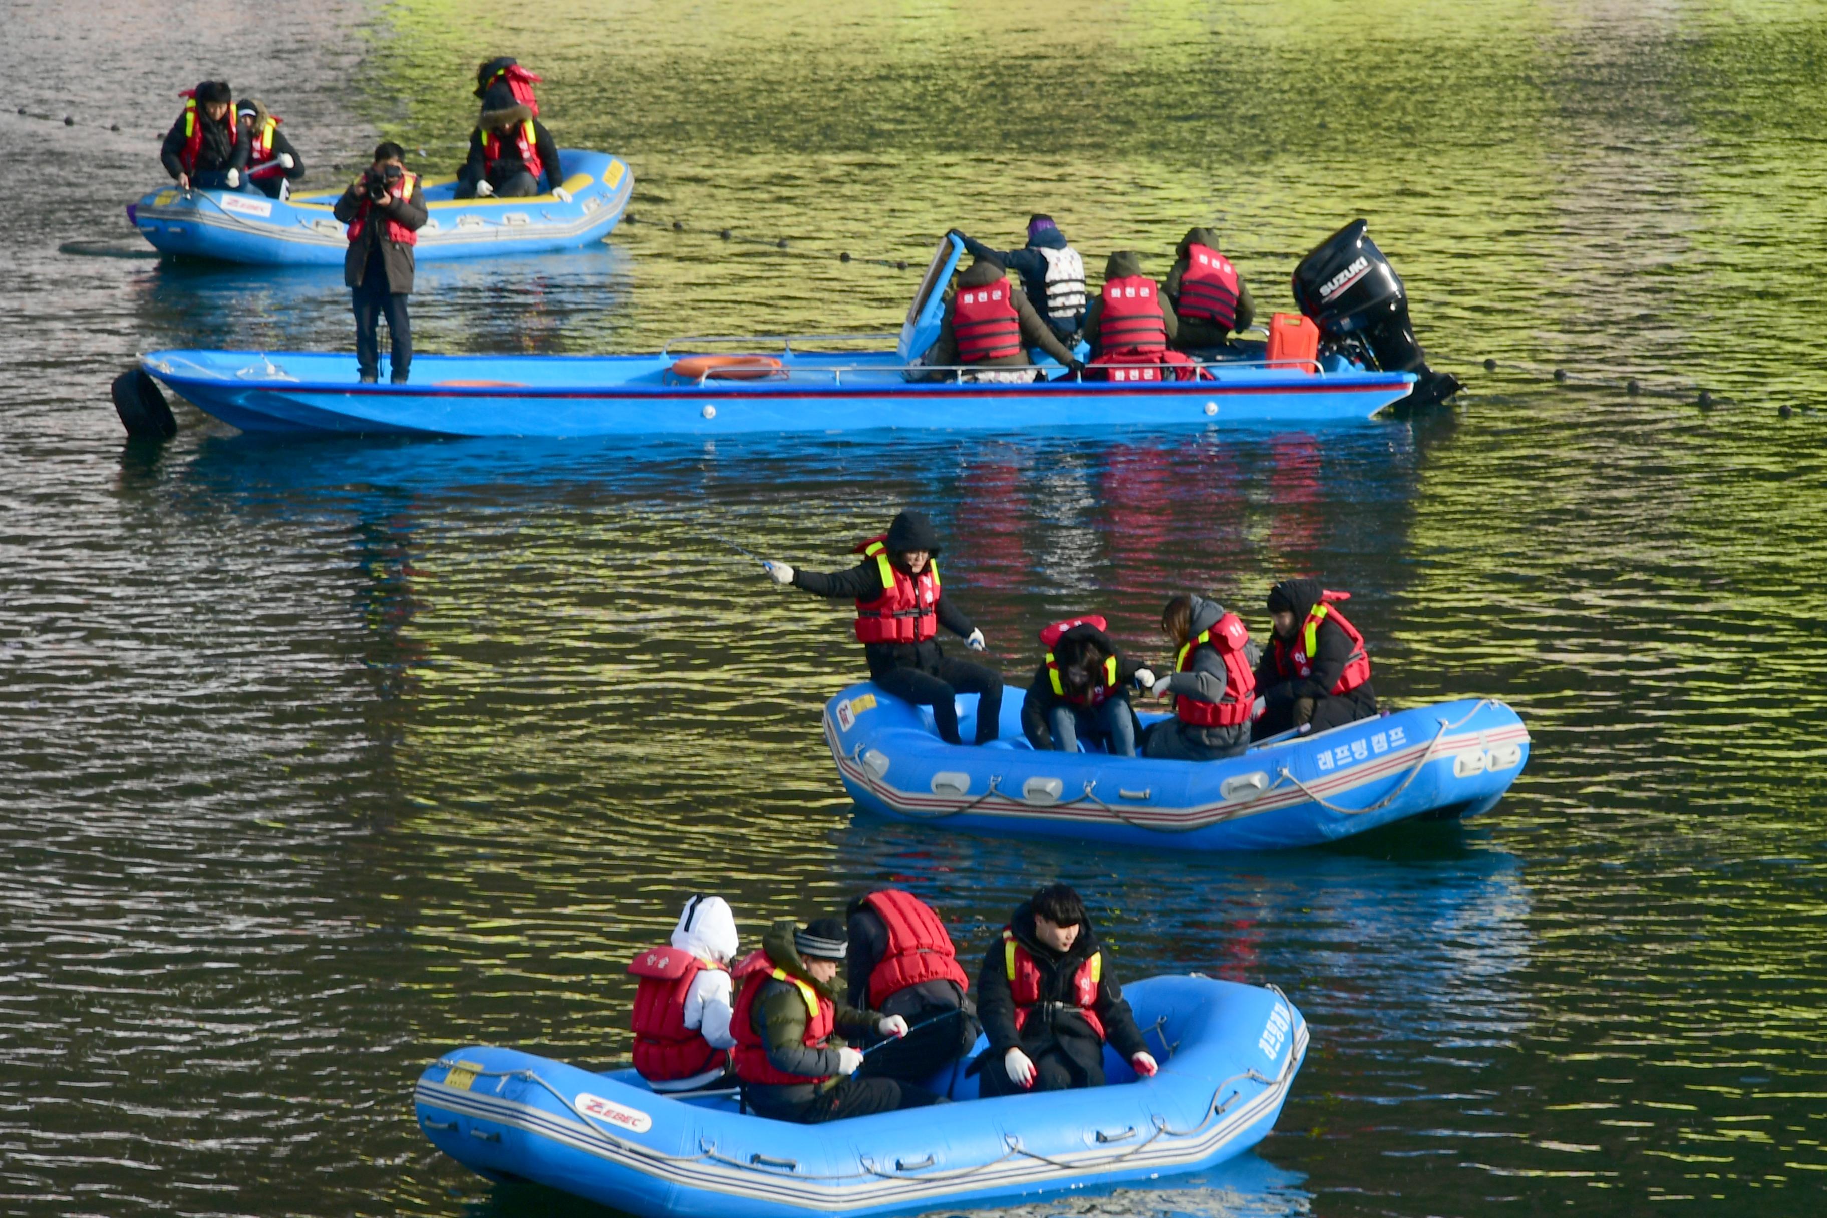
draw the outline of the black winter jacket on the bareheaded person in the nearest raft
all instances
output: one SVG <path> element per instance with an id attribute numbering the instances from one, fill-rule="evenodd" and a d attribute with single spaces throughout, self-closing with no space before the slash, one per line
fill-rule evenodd
<path id="1" fill-rule="evenodd" d="M 1091 1076 L 1094 1087 L 1100 1085 L 1104 1081 L 1104 1041 L 1078 1015 L 1078 1003 L 1072 990 L 1072 975 L 1078 971 L 1078 966 L 1102 948 L 1098 933 L 1091 928 L 1091 922 L 1085 922 L 1078 928 L 1072 950 L 1060 955 L 1052 948 L 1043 948 L 1034 937 L 1034 909 L 1027 902 L 1009 919 L 1009 929 L 1014 931 L 1016 942 L 1034 955 L 1034 964 L 1040 968 L 1041 1001 L 1065 1003 L 1071 1010 L 1058 1010 L 1052 1017 L 1047 1017 L 1041 1010 L 1034 1010 L 1027 1019 L 1027 1026 L 1018 1034 L 1016 1003 L 1009 988 L 1007 953 L 1001 937 L 998 937 L 990 944 L 988 953 L 985 953 L 983 970 L 977 973 L 977 1017 L 983 1021 L 983 1032 L 990 1039 L 990 1048 L 985 1054 L 985 1068 L 1001 1070 L 1003 1054 L 1010 1048 L 1019 1048 L 1029 1057 L 1040 1057 L 1058 1046 L 1061 1054 Z M 1111 1046 L 1124 1059 L 1147 1050 L 1147 1041 L 1142 1039 L 1142 1028 L 1136 1026 L 1135 1012 L 1129 1010 L 1122 986 L 1116 984 L 1116 971 L 1111 968 L 1107 953 L 1093 1010 L 1104 1021 L 1104 1032 Z"/>

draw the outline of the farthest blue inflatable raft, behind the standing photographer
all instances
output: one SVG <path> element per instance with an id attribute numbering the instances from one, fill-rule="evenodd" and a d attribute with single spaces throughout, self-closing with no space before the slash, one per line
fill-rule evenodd
<path id="1" fill-rule="evenodd" d="M 601 241 L 621 219 L 634 173 L 603 152 L 561 152 L 570 170 L 557 195 L 524 199 L 457 199 L 457 179 L 426 177 L 426 210 L 418 230 L 420 261 L 543 254 Z M 155 190 L 128 208 L 128 219 L 164 254 L 212 257 L 263 267 L 342 267 L 349 241 L 331 214 L 343 188 L 269 199 L 247 190 Z"/>

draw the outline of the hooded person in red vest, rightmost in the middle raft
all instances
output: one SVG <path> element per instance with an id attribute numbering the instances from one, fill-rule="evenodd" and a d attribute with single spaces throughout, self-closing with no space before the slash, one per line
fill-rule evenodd
<path id="1" fill-rule="evenodd" d="M 1328 727 L 1376 716 L 1370 656 L 1357 626 L 1337 610 L 1348 592 L 1326 592 L 1317 579 L 1284 579 L 1268 592 L 1273 637 L 1257 665 L 1262 716 L 1255 738 Z"/>

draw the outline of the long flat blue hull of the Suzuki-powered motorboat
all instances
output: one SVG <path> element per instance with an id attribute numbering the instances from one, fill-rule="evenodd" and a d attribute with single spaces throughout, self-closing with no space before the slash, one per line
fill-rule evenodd
<path id="1" fill-rule="evenodd" d="M 1319 427 L 1361 422 L 1414 383 L 1410 373 L 1255 365 L 1200 382 L 910 383 L 895 352 L 787 352 L 775 380 L 672 383 L 676 358 L 415 356 L 406 385 L 356 383 L 353 354 L 157 351 L 143 367 L 243 431 L 422 436 Z"/>

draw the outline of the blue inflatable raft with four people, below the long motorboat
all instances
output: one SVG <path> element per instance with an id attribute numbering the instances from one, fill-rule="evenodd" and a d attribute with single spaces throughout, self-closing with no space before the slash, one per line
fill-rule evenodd
<path id="1" fill-rule="evenodd" d="M 976 734 L 976 701 L 957 699 L 965 740 Z M 1001 740 L 948 745 L 932 710 L 862 683 L 826 703 L 824 736 L 844 789 L 882 816 L 1199 851 L 1317 845 L 1398 820 L 1463 820 L 1491 811 L 1529 760 L 1529 730 L 1489 698 L 1264 741 L 1224 761 L 1162 761 L 1038 752 L 1021 734 L 1019 694 L 1003 699 Z"/>

